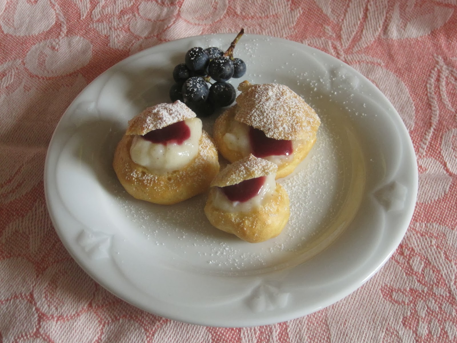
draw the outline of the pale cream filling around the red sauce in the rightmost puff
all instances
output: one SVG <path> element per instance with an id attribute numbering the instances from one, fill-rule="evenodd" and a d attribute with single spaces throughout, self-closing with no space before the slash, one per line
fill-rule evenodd
<path id="1" fill-rule="evenodd" d="M 251 145 L 249 141 L 249 125 L 233 120 L 226 134 L 223 136 L 223 141 L 231 150 L 239 151 L 243 157 L 249 156 Z M 299 140 L 292 140 L 292 149 L 299 145 Z M 289 163 L 293 159 L 293 152 L 290 155 L 270 155 L 263 157 L 265 160 L 275 163 L 277 166 Z"/>

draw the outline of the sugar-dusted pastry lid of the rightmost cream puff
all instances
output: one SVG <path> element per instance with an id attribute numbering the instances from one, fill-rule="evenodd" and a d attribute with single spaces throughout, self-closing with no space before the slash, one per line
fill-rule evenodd
<path id="1" fill-rule="evenodd" d="M 274 83 L 251 85 L 242 82 L 242 93 L 235 120 L 262 130 L 274 139 L 312 139 L 320 119 L 297 93 L 289 87 Z"/>

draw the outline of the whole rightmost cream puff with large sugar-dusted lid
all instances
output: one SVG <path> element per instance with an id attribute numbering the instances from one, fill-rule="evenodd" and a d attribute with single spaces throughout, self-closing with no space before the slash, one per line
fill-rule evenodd
<path id="1" fill-rule="evenodd" d="M 289 87 L 242 82 L 236 105 L 214 123 L 214 140 L 230 162 L 253 154 L 278 166 L 276 178 L 289 175 L 316 142 L 320 119 Z"/>

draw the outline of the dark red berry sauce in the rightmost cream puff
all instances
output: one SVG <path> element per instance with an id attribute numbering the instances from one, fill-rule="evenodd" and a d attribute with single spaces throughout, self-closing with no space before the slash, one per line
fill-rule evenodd
<path id="1" fill-rule="evenodd" d="M 288 156 L 293 151 L 292 140 L 269 138 L 262 130 L 252 126 L 249 129 L 249 141 L 252 154 L 260 158 L 271 155 Z"/>

